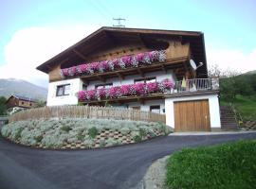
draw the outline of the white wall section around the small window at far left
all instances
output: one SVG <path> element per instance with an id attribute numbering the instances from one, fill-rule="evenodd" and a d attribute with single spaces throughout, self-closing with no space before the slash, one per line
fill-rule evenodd
<path id="1" fill-rule="evenodd" d="M 56 96 L 57 86 L 70 84 L 70 94 Z M 50 82 L 48 85 L 47 106 L 75 105 L 78 104 L 76 93 L 82 90 L 82 81 L 80 78 L 66 79 L 56 82 Z"/>

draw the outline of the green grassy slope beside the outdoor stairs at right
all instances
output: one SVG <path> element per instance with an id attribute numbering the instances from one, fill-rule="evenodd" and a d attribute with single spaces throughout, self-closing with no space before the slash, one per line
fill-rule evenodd
<path id="1" fill-rule="evenodd" d="M 229 102 L 221 99 L 221 106 L 228 106 Z M 256 119 L 256 96 L 236 95 L 233 102 L 235 109 L 241 114 L 244 121 Z"/>

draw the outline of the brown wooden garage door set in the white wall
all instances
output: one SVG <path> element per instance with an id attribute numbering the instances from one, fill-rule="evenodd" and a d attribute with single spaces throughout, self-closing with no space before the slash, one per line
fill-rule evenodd
<path id="1" fill-rule="evenodd" d="M 210 131 L 208 100 L 174 102 L 175 131 Z"/>

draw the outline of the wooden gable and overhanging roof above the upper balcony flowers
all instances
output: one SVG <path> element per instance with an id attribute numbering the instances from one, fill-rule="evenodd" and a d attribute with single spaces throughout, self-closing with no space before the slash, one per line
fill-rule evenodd
<path id="1" fill-rule="evenodd" d="M 155 49 L 166 49 L 166 41 L 190 43 L 193 60 L 203 61 L 198 71 L 207 74 L 204 46 L 204 35 L 194 31 L 173 31 L 155 29 L 101 27 L 96 32 L 72 45 L 51 60 L 47 60 L 37 69 L 45 73 L 61 68 L 79 65 L 82 62 L 109 60 L 121 56 L 146 52 Z"/>

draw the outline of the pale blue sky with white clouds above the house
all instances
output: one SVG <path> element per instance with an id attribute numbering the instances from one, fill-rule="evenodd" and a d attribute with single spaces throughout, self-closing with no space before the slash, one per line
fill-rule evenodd
<path id="1" fill-rule="evenodd" d="M 202 31 L 208 66 L 256 70 L 255 0 L 0 0 L 0 78 L 47 87 L 35 68 L 124 18 L 126 27 Z"/>

